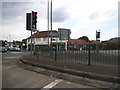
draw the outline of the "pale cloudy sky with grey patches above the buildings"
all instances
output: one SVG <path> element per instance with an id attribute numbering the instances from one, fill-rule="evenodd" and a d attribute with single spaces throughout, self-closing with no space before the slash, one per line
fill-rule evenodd
<path id="1" fill-rule="evenodd" d="M 48 0 L 2 0 L 0 39 L 22 40 L 30 36 L 26 30 L 26 13 L 38 12 L 37 28 L 47 30 Z M 101 40 L 118 37 L 118 2 L 120 0 L 52 0 L 53 29 L 71 29 L 71 38 L 87 36 L 95 40 L 101 30 Z"/>

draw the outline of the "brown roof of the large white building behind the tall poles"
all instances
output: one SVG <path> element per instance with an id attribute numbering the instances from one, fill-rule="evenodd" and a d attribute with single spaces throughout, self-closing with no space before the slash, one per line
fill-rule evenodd
<path id="1" fill-rule="evenodd" d="M 51 31 L 40 31 L 40 32 L 38 31 L 35 34 L 33 34 L 32 37 L 45 38 L 45 37 L 48 37 L 48 36 L 51 36 L 51 35 L 52 35 L 52 37 L 58 37 L 58 31 L 53 30 L 52 34 L 51 34 Z M 31 36 L 28 37 L 27 39 L 29 39 L 29 38 L 31 38 Z"/>

